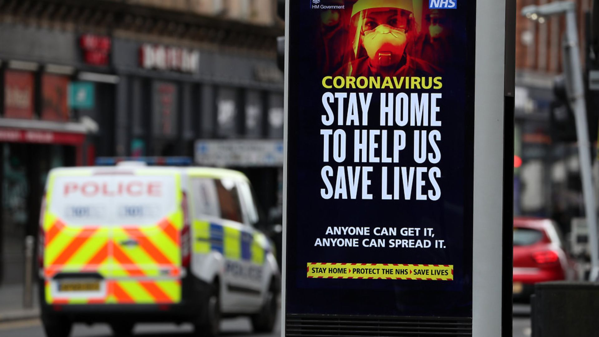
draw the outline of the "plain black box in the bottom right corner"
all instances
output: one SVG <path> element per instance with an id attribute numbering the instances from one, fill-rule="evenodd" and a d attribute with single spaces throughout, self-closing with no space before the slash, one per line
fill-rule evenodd
<path id="1" fill-rule="evenodd" d="M 599 337 L 599 283 L 543 282 L 535 285 L 533 337 Z"/>

